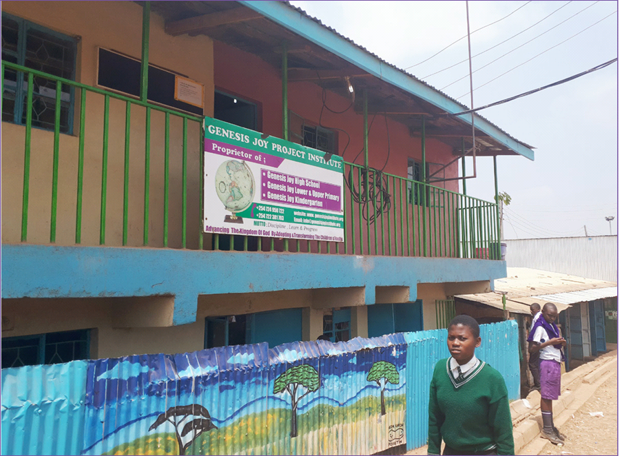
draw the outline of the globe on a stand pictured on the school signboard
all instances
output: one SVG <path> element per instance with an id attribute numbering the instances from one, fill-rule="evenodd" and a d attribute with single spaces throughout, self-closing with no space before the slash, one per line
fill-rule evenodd
<path id="1" fill-rule="evenodd" d="M 254 199 L 254 176 L 245 161 L 226 160 L 215 176 L 216 193 L 227 211 L 225 222 L 242 223 L 237 212 L 245 211 Z"/>

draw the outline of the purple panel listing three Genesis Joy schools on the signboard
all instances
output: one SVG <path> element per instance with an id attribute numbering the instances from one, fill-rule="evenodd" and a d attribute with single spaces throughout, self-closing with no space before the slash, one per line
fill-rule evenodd
<path id="1" fill-rule="evenodd" d="M 270 177 L 269 174 L 271 174 Z M 307 185 L 312 183 L 315 185 Z M 326 198 L 325 196 L 317 196 L 316 194 L 328 194 L 338 199 Z M 313 209 L 322 209 L 324 211 L 340 212 L 341 205 L 341 187 L 320 180 L 302 178 L 299 176 L 291 176 L 281 172 L 273 172 L 270 169 L 260 170 L 260 200 L 270 201 L 272 203 L 284 203 L 297 207 L 311 207 Z M 296 198 L 299 198 L 296 200 Z M 304 203 L 300 200 L 321 201 L 323 204 L 312 205 Z"/>

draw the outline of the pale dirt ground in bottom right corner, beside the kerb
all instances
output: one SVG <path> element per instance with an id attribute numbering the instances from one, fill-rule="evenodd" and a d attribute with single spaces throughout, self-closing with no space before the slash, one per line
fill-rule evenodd
<path id="1" fill-rule="evenodd" d="M 597 412 L 603 416 L 590 415 Z M 539 455 L 617 455 L 618 373 L 599 386 L 559 431 L 567 437 L 564 446 L 547 442 Z"/>

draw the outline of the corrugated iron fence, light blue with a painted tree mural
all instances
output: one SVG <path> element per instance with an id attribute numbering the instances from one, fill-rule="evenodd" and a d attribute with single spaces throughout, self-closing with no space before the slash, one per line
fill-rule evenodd
<path id="1" fill-rule="evenodd" d="M 519 397 L 517 325 L 477 355 Z M 446 330 L 2 371 L 3 454 L 373 454 L 426 443 Z"/>

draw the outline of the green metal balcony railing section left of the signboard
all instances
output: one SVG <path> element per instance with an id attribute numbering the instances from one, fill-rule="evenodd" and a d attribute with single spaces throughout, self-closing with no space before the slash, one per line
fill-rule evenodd
<path id="1" fill-rule="evenodd" d="M 132 148 L 132 137 L 136 135 L 136 129 L 143 128 L 145 134 L 145 148 L 144 148 L 144 213 L 143 213 L 143 245 L 149 246 L 149 207 L 150 207 L 150 194 L 151 194 L 151 170 L 152 165 L 163 167 L 164 174 L 164 189 L 163 189 L 163 247 L 168 247 L 168 228 L 169 228 L 169 169 L 170 169 L 170 119 L 176 118 L 183 123 L 183 152 L 182 152 L 182 183 L 181 183 L 181 217 L 180 217 L 180 231 L 181 242 L 180 247 L 187 247 L 187 154 L 188 154 L 188 123 L 197 123 L 202 131 L 201 125 L 203 118 L 192 116 L 189 114 L 183 114 L 176 110 L 169 110 L 165 107 L 158 105 L 152 105 L 145 101 L 132 99 L 127 96 L 107 92 L 96 87 L 91 87 L 82 83 L 76 83 L 68 79 L 52 76 L 47 73 L 25 68 L 21 65 L 2 62 L 2 81 L 6 72 L 13 72 L 16 74 L 17 81 L 23 79 L 25 75 L 28 81 L 26 106 L 32 107 L 32 96 L 35 90 L 34 77 L 43 77 L 48 80 L 56 81 L 56 99 L 55 99 L 55 123 L 54 123 L 54 141 L 53 141 L 53 162 L 52 162 L 52 197 L 51 197 L 51 209 L 50 209 L 50 242 L 56 242 L 56 214 L 58 213 L 59 200 L 58 200 L 58 185 L 59 185 L 59 163 L 60 163 L 60 105 L 61 105 L 61 93 L 62 88 L 65 86 L 74 87 L 81 93 L 79 97 L 79 115 L 77 122 L 79 122 L 79 141 L 78 141 L 78 173 L 76 176 L 76 228 L 75 228 L 75 243 L 81 244 L 82 242 L 82 221 L 83 221 L 83 191 L 84 191 L 84 151 L 85 151 L 85 137 L 87 135 L 86 129 L 86 112 L 87 112 L 87 94 L 90 92 L 94 96 L 101 96 L 103 98 L 103 116 L 101 126 L 93 125 L 94 128 L 101 128 L 103 131 L 102 149 L 101 149 L 101 211 L 99 221 L 99 244 L 106 245 L 106 209 L 108 194 L 108 170 L 109 170 L 109 154 L 110 154 L 110 103 L 114 100 L 116 103 L 125 103 L 125 129 L 124 129 L 124 168 L 123 168 L 123 218 L 122 218 L 122 245 L 128 243 L 128 229 L 130 226 L 130 193 L 133 186 L 130 182 L 130 161 L 132 152 L 135 148 Z M 4 90 L 4 89 L 3 89 Z M 4 97 L 4 92 L 3 92 Z M 89 105 L 92 103 L 90 101 Z M 97 103 L 92 103 L 96 105 Z M 132 125 L 132 108 L 134 110 L 142 110 L 145 114 L 145 120 L 142 125 L 136 127 Z M 23 192 L 22 192 L 22 208 L 21 208 L 21 242 L 28 242 L 28 208 L 31 198 L 30 193 L 30 155 L 32 148 L 32 109 L 25 110 L 25 134 L 24 134 L 24 171 L 23 171 Z M 164 149 L 164 163 L 152 164 L 152 115 L 158 113 L 159 116 L 165 118 L 165 132 L 163 145 L 159 145 Z M 70 120 L 71 121 L 71 120 Z M 119 134 L 118 131 L 112 132 L 112 134 Z M 200 133 L 200 141 L 202 141 L 202 133 Z M 201 143 L 200 143 L 201 144 Z M 196 141 L 198 145 L 198 141 Z M 200 149 L 202 146 L 200 145 Z M 202 172 L 200 172 L 200 179 L 202 179 Z M 200 181 L 202 182 L 202 181 Z M 196 196 L 198 197 L 198 196 Z M 200 238 L 200 244 L 202 238 Z"/>

